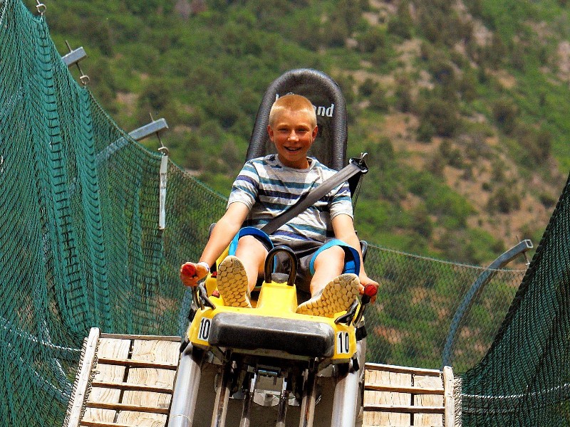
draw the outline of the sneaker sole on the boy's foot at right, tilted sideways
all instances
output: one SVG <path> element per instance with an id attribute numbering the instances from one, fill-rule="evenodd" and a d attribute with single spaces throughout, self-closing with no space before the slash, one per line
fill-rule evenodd
<path id="1" fill-rule="evenodd" d="M 310 300 L 297 307 L 301 315 L 333 317 L 335 313 L 348 310 L 358 297 L 358 276 L 356 274 L 341 274 L 331 280 Z"/>

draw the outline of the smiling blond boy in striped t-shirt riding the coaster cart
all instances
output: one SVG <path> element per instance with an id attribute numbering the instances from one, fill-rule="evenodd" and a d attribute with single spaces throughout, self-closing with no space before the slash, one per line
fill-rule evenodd
<path id="1" fill-rule="evenodd" d="M 234 181 L 226 213 L 214 226 L 199 262 L 190 263 L 195 275 L 184 273 L 182 265 L 182 283 L 196 286 L 239 232 L 235 256 L 229 255 L 218 266 L 218 290 L 228 305 L 251 307 L 249 292 L 263 273 L 272 245 L 289 246 L 299 258 L 296 284 L 311 294 L 311 299 L 297 308 L 301 314 L 332 317 L 347 310 L 365 285 L 378 285 L 364 270 L 346 182 L 270 237 L 259 233 L 271 218 L 336 172 L 306 157 L 317 131 L 315 110 L 306 97 L 289 94 L 274 102 L 267 132 L 277 154 L 244 165 Z M 244 223 L 253 226 L 255 232 L 240 231 Z M 331 240 L 332 236 L 335 239 Z M 343 273 L 351 258 L 358 275 Z M 278 265 L 279 269 L 287 271 L 285 265 Z"/>

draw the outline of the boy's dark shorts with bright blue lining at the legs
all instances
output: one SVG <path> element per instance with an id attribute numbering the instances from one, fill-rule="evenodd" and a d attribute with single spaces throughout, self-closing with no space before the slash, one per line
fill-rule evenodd
<path id="1" fill-rule="evenodd" d="M 295 280 L 296 286 L 299 290 L 310 292 L 309 285 L 315 273 L 315 259 L 319 253 L 326 251 L 331 246 L 340 246 L 344 250 L 344 270 L 343 273 L 354 273 L 358 275 L 361 269 L 361 259 L 358 251 L 338 238 L 331 238 L 325 243 L 316 241 L 291 241 L 278 238 L 275 236 L 267 236 L 266 233 L 255 227 L 244 227 L 234 237 L 232 243 L 229 245 L 229 255 L 234 255 L 237 249 L 237 242 L 243 236 L 254 236 L 270 251 L 274 246 L 288 246 L 293 250 L 297 256 L 297 278 Z M 289 274 L 291 266 L 289 257 L 276 255 L 276 265 L 274 272 Z"/>

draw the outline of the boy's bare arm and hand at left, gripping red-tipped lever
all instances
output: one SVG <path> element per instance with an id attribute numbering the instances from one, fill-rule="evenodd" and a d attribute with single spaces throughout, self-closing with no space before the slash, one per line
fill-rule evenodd
<path id="1" fill-rule="evenodd" d="M 239 228 L 242 227 L 242 223 L 244 223 L 248 213 L 249 208 L 239 201 L 228 206 L 224 216 L 219 218 L 219 221 L 217 221 L 214 226 L 208 243 L 206 243 L 204 251 L 202 252 L 202 256 L 200 256 L 199 263 L 185 263 L 180 267 L 180 279 L 182 283 L 186 286 L 196 286 L 199 280 L 206 277 L 208 270 L 202 263 L 206 263 L 212 268 L 212 265 L 214 265 L 219 258 L 219 255 L 222 255 L 225 248 L 227 248 L 232 241 L 232 238 L 234 238 L 239 231 Z M 185 265 L 192 265 L 194 271 L 192 271 L 192 268 L 190 268 L 190 271 L 193 274 L 188 273 L 188 270 L 185 269 Z"/>

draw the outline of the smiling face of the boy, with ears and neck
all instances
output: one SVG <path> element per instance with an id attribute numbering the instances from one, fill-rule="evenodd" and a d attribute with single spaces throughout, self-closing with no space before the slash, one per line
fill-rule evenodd
<path id="1" fill-rule="evenodd" d="M 275 144 L 277 156 L 284 166 L 294 169 L 309 167 L 307 152 L 316 138 L 318 127 L 314 116 L 304 110 L 283 110 L 267 127 L 269 139 Z"/>

